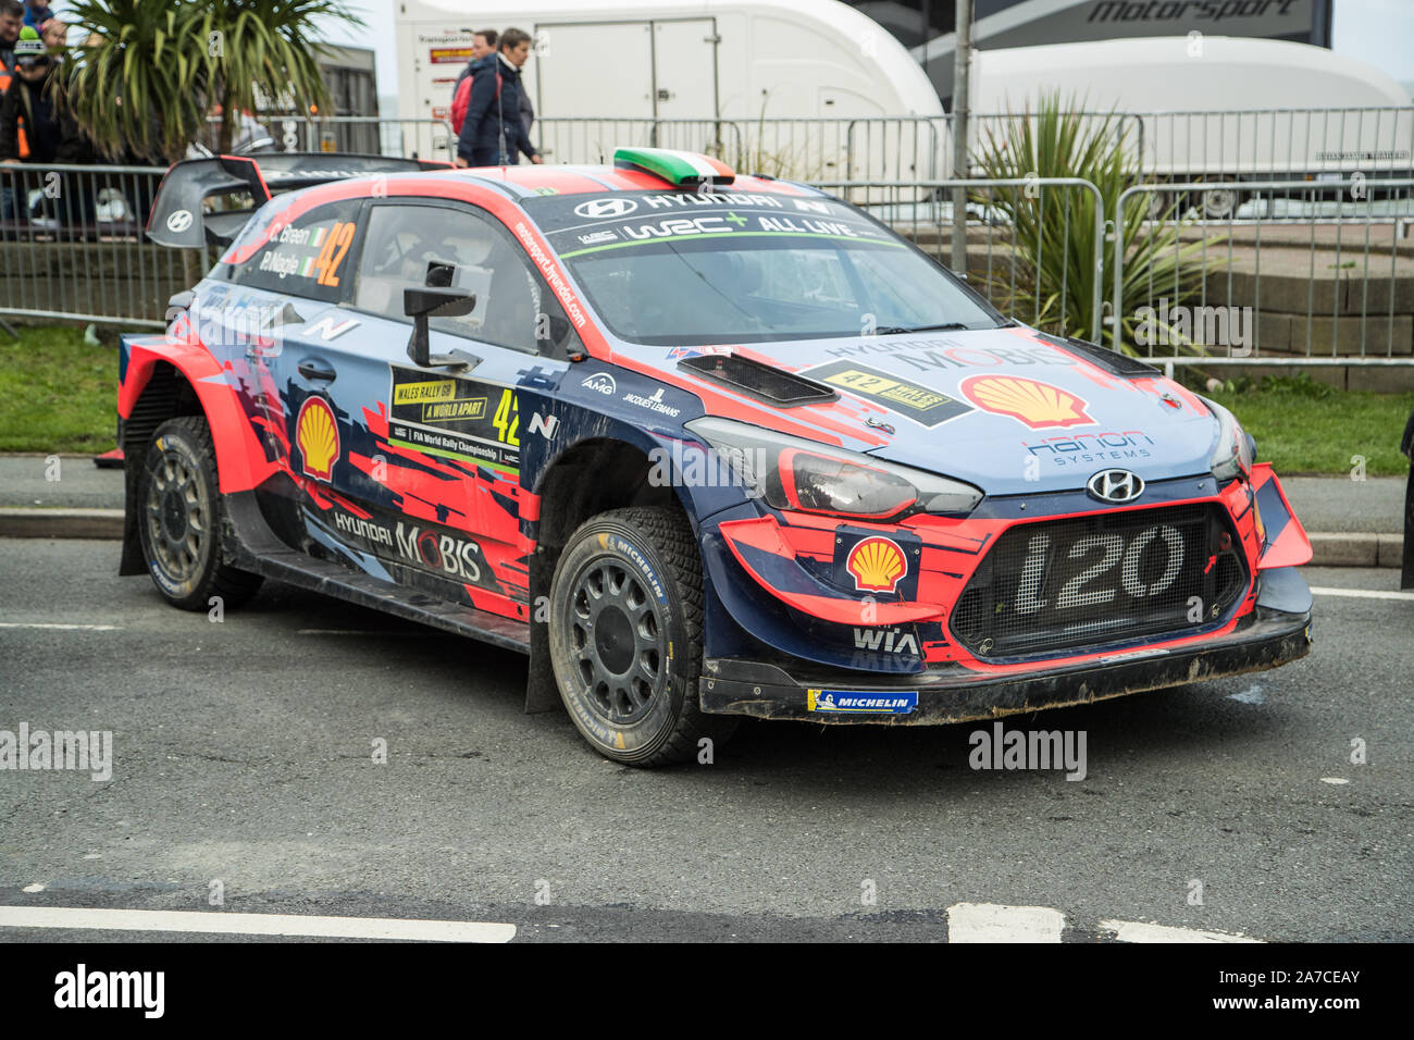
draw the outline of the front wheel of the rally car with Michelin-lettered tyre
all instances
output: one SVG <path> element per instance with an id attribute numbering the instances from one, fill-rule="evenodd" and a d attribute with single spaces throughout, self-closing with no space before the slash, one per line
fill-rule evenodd
<path id="1" fill-rule="evenodd" d="M 703 577 L 677 509 L 614 509 L 570 536 L 551 582 L 550 658 L 566 710 L 605 758 L 687 761 L 737 720 L 703 715 Z"/>

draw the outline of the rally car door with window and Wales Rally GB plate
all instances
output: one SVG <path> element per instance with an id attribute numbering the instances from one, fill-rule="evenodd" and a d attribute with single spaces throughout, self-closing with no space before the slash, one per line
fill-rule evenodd
<path id="1" fill-rule="evenodd" d="M 522 535 L 522 436 L 567 368 L 549 330 L 568 323 L 484 211 L 373 200 L 359 225 L 349 297 L 284 351 L 291 398 L 314 409 L 291 434 L 307 471 L 305 443 L 329 447 L 321 398 L 342 437 L 329 494 L 305 505 L 310 535 L 389 582 L 523 618 L 533 546 Z M 433 359 L 458 364 L 419 366 L 403 291 L 427 286 L 434 266 L 475 307 L 430 320 Z"/>

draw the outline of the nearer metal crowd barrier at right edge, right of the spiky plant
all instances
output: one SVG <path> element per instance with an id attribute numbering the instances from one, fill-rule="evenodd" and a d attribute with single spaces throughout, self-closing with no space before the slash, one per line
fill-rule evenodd
<path id="1" fill-rule="evenodd" d="M 1179 205 L 1155 195 L 1206 187 L 1116 200 L 1111 226 L 1131 235 L 1113 263 L 1113 344 L 1169 364 L 1414 362 L 1414 178 L 1249 181 L 1226 221 L 1148 219 Z"/>

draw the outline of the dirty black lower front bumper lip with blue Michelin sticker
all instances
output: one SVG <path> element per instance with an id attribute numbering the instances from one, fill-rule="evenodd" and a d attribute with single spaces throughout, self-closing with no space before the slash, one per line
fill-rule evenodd
<path id="1" fill-rule="evenodd" d="M 1267 572 L 1253 613 L 1234 630 L 1179 647 L 1138 647 L 1080 662 L 978 672 L 940 665 L 908 676 L 817 669 L 805 661 L 708 658 L 701 709 L 758 719 L 926 726 L 995 719 L 1042 707 L 1258 672 L 1311 649 L 1311 593 L 1292 569 Z M 857 707 L 854 706 L 857 705 Z"/>

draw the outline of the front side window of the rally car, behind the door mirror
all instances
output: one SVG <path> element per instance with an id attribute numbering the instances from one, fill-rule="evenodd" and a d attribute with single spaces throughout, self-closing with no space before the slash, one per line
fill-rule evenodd
<path id="1" fill-rule="evenodd" d="M 354 306 L 406 320 L 403 290 L 427 284 L 427 266 L 452 266 L 451 284 L 477 294 L 462 317 L 434 317 L 440 333 L 534 352 L 550 294 L 505 231 L 468 209 L 375 205 L 359 260 Z M 559 314 L 559 304 L 553 308 Z"/>

